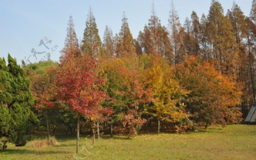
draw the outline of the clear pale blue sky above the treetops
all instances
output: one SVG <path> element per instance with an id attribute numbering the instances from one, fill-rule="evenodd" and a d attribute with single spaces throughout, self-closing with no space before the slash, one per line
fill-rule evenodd
<path id="1" fill-rule="evenodd" d="M 225 14 L 232 8 L 233 2 L 236 2 L 248 16 L 252 0 L 219 2 Z M 211 0 L 174 0 L 181 24 L 186 17 L 190 18 L 192 10 L 199 17 L 203 13 L 207 15 L 210 3 Z M 156 15 L 167 27 L 171 0 L 155 0 L 154 4 Z M 52 60 L 59 60 L 69 15 L 73 16 L 77 37 L 82 39 L 89 6 L 96 18 L 101 37 L 106 25 L 112 28 L 114 34 L 119 32 L 125 11 L 133 37 L 137 38 L 138 32 L 143 30 L 150 18 L 152 0 L 0 0 L 0 57 L 6 58 L 10 53 L 20 64 L 25 57 L 30 57 L 28 60 L 35 62 L 50 53 Z M 43 42 L 41 45 L 40 40 Z M 31 51 L 36 53 L 35 56 Z"/>

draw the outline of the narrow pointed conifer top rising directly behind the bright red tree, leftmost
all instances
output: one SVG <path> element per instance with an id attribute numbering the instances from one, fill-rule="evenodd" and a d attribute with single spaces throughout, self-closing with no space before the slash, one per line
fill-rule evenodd
<path id="1" fill-rule="evenodd" d="M 67 37 L 65 38 L 65 44 L 63 50 L 61 50 L 61 59 L 66 56 L 78 57 L 80 56 L 79 43 L 76 36 L 76 31 L 74 28 L 73 18 L 69 16 L 68 28 L 67 28 Z"/>

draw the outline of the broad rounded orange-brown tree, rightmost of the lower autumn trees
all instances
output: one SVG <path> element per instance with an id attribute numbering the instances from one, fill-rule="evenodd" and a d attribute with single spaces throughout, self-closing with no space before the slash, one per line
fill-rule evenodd
<path id="1" fill-rule="evenodd" d="M 200 57 L 189 57 L 176 66 L 176 78 L 189 91 L 185 99 L 186 110 L 193 122 L 229 124 L 241 120 L 241 90 L 232 78 L 220 74 L 213 65 Z"/>

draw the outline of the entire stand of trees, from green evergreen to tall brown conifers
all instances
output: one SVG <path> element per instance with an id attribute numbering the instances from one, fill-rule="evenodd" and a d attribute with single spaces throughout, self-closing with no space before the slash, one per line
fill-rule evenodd
<path id="1" fill-rule="evenodd" d="M 255 6 L 248 17 L 236 4 L 224 15 L 212 1 L 207 16 L 193 11 L 182 26 L 172 4 L 164 27 L 153 5 L 137 39 L 124 13 L 119 33 L 107 26 L 103 41 L 90 9 L 81 44 L 71 16 L 59 64 L 21 70 L 0 60 L 0 137 L 18 144 L 32 124 L 46 124 L 48 136 L 58 125 L 76 132 L 78 153 L 80 131 L 100 138 L 107 128 L 135 136 L 237 123 L 255 102 Z"/>

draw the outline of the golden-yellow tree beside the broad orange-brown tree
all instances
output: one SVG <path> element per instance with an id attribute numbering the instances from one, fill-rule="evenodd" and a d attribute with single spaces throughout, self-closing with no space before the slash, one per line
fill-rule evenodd
<path id="1" fill-rule="evenodd" d="M 176 79 L 172 78 L 174 74 L 167 61 L 159 56 L 143 55 L 142 58 L 150 64 L 147 64 L 145 78 L 153 96 L 152 102 L 147 104 L 143 113 L 155 117 L 158 121 L 158 133 L 160 133 L 160 121 L 176 123 L 176 129 L 178 129 L 181 121 L 188 120 L 188 114 L 181 104 L 186 94 L 185 90 L 180 87 Z"/>

